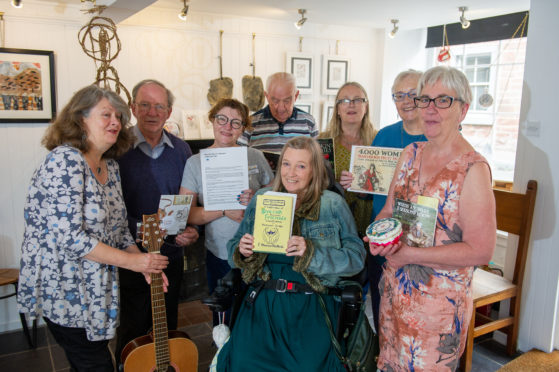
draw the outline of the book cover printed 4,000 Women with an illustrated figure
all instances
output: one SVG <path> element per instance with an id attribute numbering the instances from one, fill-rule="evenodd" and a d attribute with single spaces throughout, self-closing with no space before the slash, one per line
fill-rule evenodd
<path id="1" fill-rule="evenodd" d="M 349 191 L 388 195 L 402 149 L 393 147 L 352 146 L 349 171 L 353 183 Z"/>

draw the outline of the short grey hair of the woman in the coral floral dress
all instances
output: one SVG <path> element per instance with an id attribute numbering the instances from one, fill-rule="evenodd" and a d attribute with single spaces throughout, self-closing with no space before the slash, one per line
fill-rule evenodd
<path id="1" fill-rule="evenodd" d="M 465 103 L 472 102 L 472 89 L 464 73 L 454 67 L 436 66 L 425 71 L 417 84 L 417 94 L 421 95 L 426 85 L 440 82 L 445 88 L 452 89 Z"/>

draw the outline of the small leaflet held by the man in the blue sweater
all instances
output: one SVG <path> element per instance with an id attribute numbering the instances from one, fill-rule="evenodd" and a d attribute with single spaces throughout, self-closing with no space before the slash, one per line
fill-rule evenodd
<path id="1" fill-rule="evenodd" d="M 159 221 L 169 235 L 177 235 L 186 228 L 192 195 L 161 195 Z"/>

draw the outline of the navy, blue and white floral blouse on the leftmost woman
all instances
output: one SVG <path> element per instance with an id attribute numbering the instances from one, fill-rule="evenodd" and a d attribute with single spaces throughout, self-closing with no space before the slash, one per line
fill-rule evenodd
<path id="1" fill-rule="evenodd" d="M 128 231 L 118 164 L 97 181 L 79 150 L 59 146 L 31 179 L 21 247 L 18 310 L 107 340 L 118 325 L 117 268 L 83 257 L 103 242 L 125 249 Z"/>

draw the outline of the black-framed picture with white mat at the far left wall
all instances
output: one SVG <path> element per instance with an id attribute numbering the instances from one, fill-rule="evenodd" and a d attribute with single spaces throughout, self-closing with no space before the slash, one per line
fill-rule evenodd
<path id="1" fill-rule="evenodd" d="M 0 123 L 49 122 L 56 116 L 54 52 L 0 48 Z M 9 86 L 8 86 L 9 85 Z"/>

